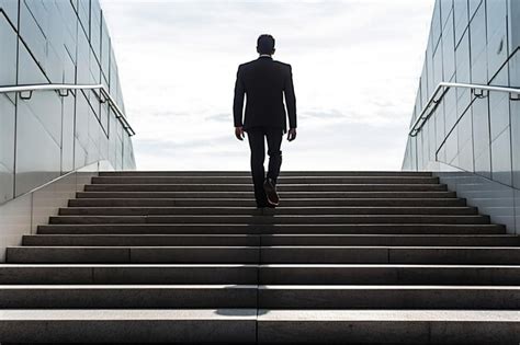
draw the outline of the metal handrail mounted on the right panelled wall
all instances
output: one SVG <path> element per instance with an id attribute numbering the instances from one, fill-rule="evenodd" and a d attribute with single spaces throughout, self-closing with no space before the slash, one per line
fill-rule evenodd
<path id="1" fill-rule="evenodd" d="M 507 92 L 510 95 L 512 94 L 516 94 L 517 96 L 520 95 L 520 89 L 517 89 L 517 88 L 466 84 L 466 83 L 455 83 L 455 82 L 441 82 L 439 83 L 439 85 L 437 85 L 436 90 L 433 91 L 433 95 L 430 97 L 430 100 L 426 104 L 426 107 L 417 117 L 416 122 L 414 123 L 414 126 L 411 126 L 410 133 L 408 134 L 410 137 L 417 137 L 417 135 L 421 131 L 422 127 L 425 126 L 426 122 L 431 117 L 431 115 L 437 110 L 442 99 L 444 99 L 445 94 L 448 93 L 448 91 L 450 91 L 450 89 L 470 89 L 471 92 L 477 97 L 483 97 L 484 91 Z M 442 94 L 439 97 L 437 97 L 441 91 L 442 91 Z M 515 99 L 515 100 L 520 100 L 520 99 Z"/>

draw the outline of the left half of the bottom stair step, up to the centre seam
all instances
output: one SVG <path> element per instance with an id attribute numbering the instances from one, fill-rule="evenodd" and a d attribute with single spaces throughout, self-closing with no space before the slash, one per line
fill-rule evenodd
<path id="1" fill-rule="evenodd" d="M 2 343 L 255 343 L 257 309 L 3 310 Z"/>

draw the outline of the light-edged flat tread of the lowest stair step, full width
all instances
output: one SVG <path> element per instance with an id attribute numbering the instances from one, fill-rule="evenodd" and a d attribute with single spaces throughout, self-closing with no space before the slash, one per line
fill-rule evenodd
<path id="1" fill-rule="evenodd" d="M 256 320 L 257 309 L 2 310 L 1 321 Z M 258 321 L 472 321 L 520 323 L 511 310 L 258 310 Z"/>

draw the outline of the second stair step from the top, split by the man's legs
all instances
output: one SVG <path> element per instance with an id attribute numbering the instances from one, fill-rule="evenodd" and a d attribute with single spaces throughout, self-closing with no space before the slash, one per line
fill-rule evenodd
<path id="1" fill-rule="evenodd" d="M 327 184 L 438 184 L 439 177 L 432 176 L 281 176 L 279 185 L 327 185 Z M 251 176 L 102 176 L 92 177 L 92 184 L 252 184 Z"/>

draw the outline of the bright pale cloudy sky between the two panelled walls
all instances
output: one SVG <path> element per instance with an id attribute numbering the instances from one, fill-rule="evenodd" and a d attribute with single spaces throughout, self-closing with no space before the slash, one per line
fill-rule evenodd
<path id="1" fill-rule="evenodd" d="M 260 34 L 291 64 L 283 170 L 400 170 L 433 0 L 102 0 L 139 170 L 249 170 L 238 65 Z"/>

